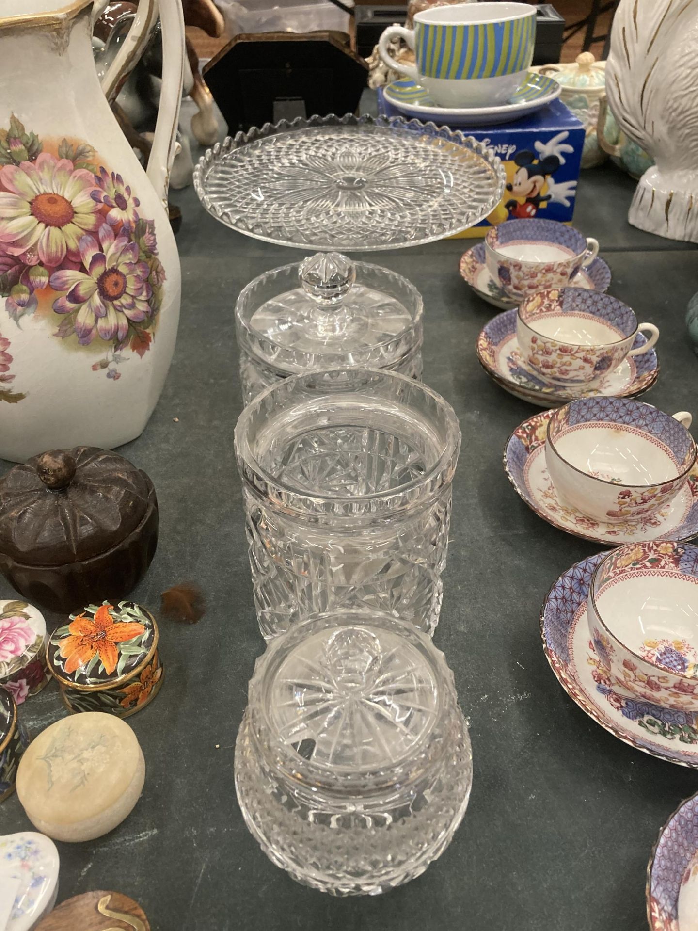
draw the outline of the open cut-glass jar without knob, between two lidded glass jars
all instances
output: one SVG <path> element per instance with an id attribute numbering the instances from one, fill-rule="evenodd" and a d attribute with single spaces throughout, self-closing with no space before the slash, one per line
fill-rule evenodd
<path id="1" fill-rule="evenodd" d="M 345 608 L 433 632 L 460 445 L 450 404 L 396 372 L 310 372 L 254 398 L 235 455 L 262 635 Z"/>

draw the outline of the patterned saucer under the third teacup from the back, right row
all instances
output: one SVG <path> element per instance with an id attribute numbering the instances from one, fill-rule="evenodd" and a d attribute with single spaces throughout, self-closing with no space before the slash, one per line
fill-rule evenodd
<path id="1" fill-rule="evenodd" d="M 552 411 L 517 427 L 504 447 L 504 471 L 519 496 L 559 530 L 593 543 L 621 546 L 640 540 L 691 540 L 698 536 L 698 465 L 676 498 L 644 519 L 605 523 L 563 505 L 545 466 L 545 429 Z"/>

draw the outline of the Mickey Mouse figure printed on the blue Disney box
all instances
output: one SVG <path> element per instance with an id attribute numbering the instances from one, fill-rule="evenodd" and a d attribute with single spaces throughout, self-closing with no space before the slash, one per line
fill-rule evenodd
<path id="1" fill-rule="evenodd" d="M 570 206 L 570 198 L 576 195 L 577 182 L 554 182 L 552 175 L 565 164 L 565 155 L 574 149 L 565 140 L 569 132 L 559 132 L 550 142 L 535 142 L 536 153 L 524 149 L 514 156 L 517 173 L 506 190 L 514 196 L 506 201 L 505 209 L 510 220 L 534 217 L 542 204 L 553 203 Z M 543 189 L 546 187 L 546 193 Z"/>

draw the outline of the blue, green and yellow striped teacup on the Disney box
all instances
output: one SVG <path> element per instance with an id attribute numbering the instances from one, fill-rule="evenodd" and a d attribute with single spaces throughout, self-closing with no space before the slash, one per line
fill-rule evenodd
<path id="1" fill-rule="evenodd" d="M 390 26 L 381 58 L 429 91 L 444 107 L 505 103 L 526 78 L 533 59 L 536 7 L 524 3 L 462 3 L 417 13 L 414 30 Z M 416 68 L 391 58 L 396 36 L 413 49 Z"/>

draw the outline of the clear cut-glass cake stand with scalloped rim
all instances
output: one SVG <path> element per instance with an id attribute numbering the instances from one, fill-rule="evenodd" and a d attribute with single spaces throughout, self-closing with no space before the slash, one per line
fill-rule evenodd
<path id="1" fill-rule="evenodd" d="M 282 246 L 399 249 L 483 220 L 500 159 L 472 136 L 401 116 L 312 116 L 239 132 L 203 155 L 197 195 L 221 223 Z"/>

